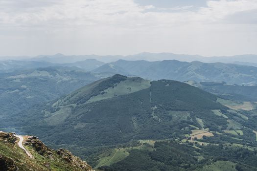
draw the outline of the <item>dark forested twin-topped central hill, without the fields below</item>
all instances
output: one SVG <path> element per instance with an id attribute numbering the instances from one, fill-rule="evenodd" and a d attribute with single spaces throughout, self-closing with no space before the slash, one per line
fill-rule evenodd
<path id="1" fill-rule="evenodd" d="M 188 132 L 188 125 L 201 127 L 197 118 L 204 119 L 210 130 L 225 129 L 227 120 L 216 118 L 211 110 L 227 107 L 216 100 L 215 95 L 177 81 L 115 75 L 24 111 L 18 125 L 54 145 L 88 147 L 174 138 Z"/>

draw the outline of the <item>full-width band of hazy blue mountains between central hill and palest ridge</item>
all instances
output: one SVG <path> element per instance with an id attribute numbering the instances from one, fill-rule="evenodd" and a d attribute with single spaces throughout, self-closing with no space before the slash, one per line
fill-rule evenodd
<path id="1" fill-rule="evenodd" d="M 169 79 L 182 82 L 193 80 L 196 82 L 226 82 L 233 85 L 257 85 L 257 67 L 242 65 L 239 62 L 237 64 L 225 64 L 202 63 L 199 61 L 188 63 L 177 60 L 154 62 L 118 60 L 105 64 L 96 59 L 87 59 L 74 63 L 56 64 L 44 61 L 2 61 L 0 62 L 0 73 L 48 66 L 62 66 L 74 70 L 90 71 L 100 78 L 122 74 L 140 76 L 149 80 Z"/>

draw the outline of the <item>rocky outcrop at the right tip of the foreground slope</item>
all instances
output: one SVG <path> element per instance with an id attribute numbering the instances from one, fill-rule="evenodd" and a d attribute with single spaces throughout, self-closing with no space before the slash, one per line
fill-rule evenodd
<path id="1" fill-rule="evenodd" d="M 85 161 L 81 160 L 79 157 L 76 157 L 71 154 L 69 150 L 59 149 L 57 154 L 62 156 L 62 158 L 77 168 L 81 168 L 83 171 L 93 171 L 92 167 L 89 166 Z"/>

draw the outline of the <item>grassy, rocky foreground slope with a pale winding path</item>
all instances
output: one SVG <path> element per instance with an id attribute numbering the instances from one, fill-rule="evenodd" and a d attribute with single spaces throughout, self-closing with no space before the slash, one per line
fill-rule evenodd
<path id="1" fill-rule="evenodd" d="M 49 149 L 35 136 L 17 136 L 14 133 L 0 131 L 0 171 L 93 171 L 93 169 L 68 150 Z"/>

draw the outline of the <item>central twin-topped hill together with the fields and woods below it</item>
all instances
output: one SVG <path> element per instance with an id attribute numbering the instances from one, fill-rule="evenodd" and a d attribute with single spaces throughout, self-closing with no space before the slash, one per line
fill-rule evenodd
<path id="1" fill-rule="evenodd" d="M 1 125 L 103 171 L 255 171 L 256 110 L 178 81 L 114 75 Z"/>

